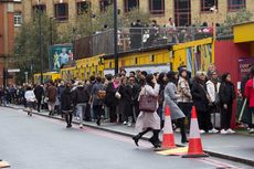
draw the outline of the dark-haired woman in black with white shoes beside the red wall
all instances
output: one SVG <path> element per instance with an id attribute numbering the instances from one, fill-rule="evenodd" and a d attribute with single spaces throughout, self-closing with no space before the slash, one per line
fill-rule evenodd
<path id="1" fill-rule="evenodd" d="M 234 134 L 235 131 L 230 128 L 230 124 L 235 92 L 234 84 L 231 82 L 230 73 L 225 73 L 221 77 L 219 97 L 221 105 L 221 134 Z"/>

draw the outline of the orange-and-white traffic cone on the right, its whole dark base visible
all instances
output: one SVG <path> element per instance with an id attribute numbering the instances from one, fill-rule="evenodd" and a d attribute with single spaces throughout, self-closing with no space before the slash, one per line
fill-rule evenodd
<path id="1" fill-rule="evenodd" d="M 198 158 L 198 157 L 209 157 L 209 155 L 204 154 L 202 148 L 199 123 L 197 119 L 197 112 L 195 112 L 195 107 L 193 106 L 191 113 L 189 149 L 188 149 L 188 154 L 182 156 L 182 158 Z"/>

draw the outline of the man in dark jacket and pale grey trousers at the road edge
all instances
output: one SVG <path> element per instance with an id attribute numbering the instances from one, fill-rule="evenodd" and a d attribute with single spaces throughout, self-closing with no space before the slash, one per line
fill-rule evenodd
<path id="1" fill-rule="evenodd" d="M 83 128 L 83 116 L 88 101 L 89 93 L 87 88 L 84 87 L 83 82 L 78 82 L 76 89 L 73 91 L 73 102 L 76 107 L 76 114 L 80 117 L 80 128 Z"/>

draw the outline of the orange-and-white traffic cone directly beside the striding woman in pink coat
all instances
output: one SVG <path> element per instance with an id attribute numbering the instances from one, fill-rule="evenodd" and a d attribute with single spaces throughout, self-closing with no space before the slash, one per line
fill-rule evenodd
<path id="1" fill-rule="evenodd" d="M 165 107 L 165 128 L 163 128 L 163 140 L 161 148 L 162 149 L 169 149 L 169 148 L 176 148 L 174 144 L 174 136 L 173 136 L 173 129 L 171 124 L 171 117 L 170 117 L 170 109 L 169 106 Z"/>

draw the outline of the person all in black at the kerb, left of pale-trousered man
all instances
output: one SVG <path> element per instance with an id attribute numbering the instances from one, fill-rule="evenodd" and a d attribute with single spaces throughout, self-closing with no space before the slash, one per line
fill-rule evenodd
<path id="1" fill-rule="evenodd" d="M 73 113 L 73 96 L 72 96 L 72 87 L 71 83 L 65 84 L 65 88 L 61 95 L 61 107 L 62 112 L 65 115 L 65 120 L 67 124 L 67 128 L 72 127 L 72 113 Z"/>

